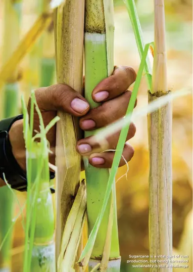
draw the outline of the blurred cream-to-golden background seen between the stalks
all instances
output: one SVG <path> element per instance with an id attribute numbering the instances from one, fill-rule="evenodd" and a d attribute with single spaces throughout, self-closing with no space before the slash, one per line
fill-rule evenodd
<path id="1" fill-rule="evenodd" d="M 116 65 L 129 65 L 137 71 L 140 60 L 129 16 L 123 2 L 115 2 L 115 61 Z M 35 3 L 35 1 L 34 1 Z M 168 81 L 173 92 L 191 87 L 192 82 L 192 4 L 190 0 L 167 0 L 166 31 L 168 52 Z M 0 2 L 1 5 L 1 2 Z M 153 0 L 136 1 L 139 19 L 145 42 L 154 40 Z M 1 8 L 0 8 L 1 9 Z M 35 6 L 28 6 L 24 0 L 22 33 L 24 34 L 36 19 Z M 0 18 L 0 25 L 1 25 Z M 1 35 L 0 35 L 1 36 Z M 0 37 L 1 39 L 1 37 Z M 0 40 L 0 47 L 2 40 Z M 35 47 L 32 49 L 35 52 Z M 32 53 L 31 53 L 31 56 Z M 34 55 L 38 67 L 38 57 Z M 30 73 L 29 57 L 26 57 L 20 69 L 23 73 L 21 89 L 29 94 L 29 80 L 38 87 L 38 69 Z M 143 77 L 138 103 L 135 110 L 148 104 L 146 79 Z M 127 167 L 119 168 L 116 183 L 117 212 L 119 226 L 122 272 L 132 271 L 126 264 L 128 255 L 149 254 L 149 191 L 148 191 L 148 134 L 147 117 L 135 120 L 136 134 L 130 141 L 135 154 Z M 184 255 L 189 255 L 189 267 L 192 271 L 192 100 L 182 97 L 173 101 L 173 247 Z M 25 202 L 25 193 L 17 193 L 20 204 Z M 15 204 L 15 215 L 19 206 Z M 21 271 L 24 232 L 22 217 L 15 225 L 13 243 L 13 271 Z M 146 269 L 147 270 L 147 269 Z M 176 269 L 181 272 L 180 269 Z M 138 269 L 137 271 L 143 271 Z M 147 270 L 148 271 L 148 270 Z"/>

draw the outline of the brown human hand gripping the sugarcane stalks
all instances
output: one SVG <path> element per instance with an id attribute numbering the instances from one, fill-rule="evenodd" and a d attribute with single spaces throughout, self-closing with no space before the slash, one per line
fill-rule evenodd
<path id="1" fill-rule="evenodd" d="M 82 130 L 93 130 L 113 123 L 126 113 L 131 96 L 131 92 L 127 88 L 135 81 L 135 77 L 136 74 L 132 68 L 128 66 L 115 67 L 113 75 L 105 78 L 93 89 L 92 99 L 102 104 L 91 110 L 87 101 L 68 85 L 55 84 L 38 88 L 35 90 L 35 97 L 44 125 L 50 123 L 57 115 L 57 111 L 80 117 L 79 124 Z M 28 112 L 29 109 L 30 100 Z M 36 112 L 34 112 L 34 130 L 39 130 L 39 118 Z M 135 125 L 131 123 L 126 141 L 134 136 L 135 130 Z M 116 149 L 119 134 L 120 131 L 107 139 L 108 147 L 106 149 Z M 22 120 L 18 120 L 12 125 L 9 138 L 13 154 L 21 168 L 25 170 L 25 143 Z M 50 155 L 50 162 L 55 164 L 56 126 L 47 133 L 47 140 L 50 142 L 51 151 L 53 152 Z M 91 137 L 78 141 L 76 150 L 81 155 L 89 156 L 89 163 L 95 167 L 110 168 L 112 165 L 114 152 L 103 152 L 104 150 L 100 145 L 93 146 Z M 133 154 L 133 148 L 125 143 L 122 154 L 124 159 L 128 162 Z M 125 164 L 124 159 L 121 159 L 119 166 Z"/>

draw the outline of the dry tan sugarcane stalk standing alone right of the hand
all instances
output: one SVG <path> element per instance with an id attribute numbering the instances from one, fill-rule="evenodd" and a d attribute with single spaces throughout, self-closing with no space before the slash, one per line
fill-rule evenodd
<path id="1" fill-rule="evenodd" d="M 169 94 L 165 46 L 164 0 L 154 0 L 155 51 L 152 91 L 149 103 Z M 171 163 L 172 106 L 167 103 L 149 115 L 150 152 L 150 255 L 172 255 L 172 163 Z M 162 257 L 161 257 L 162 258 Z M 155 263 L 159 264 L 159 263 Z M 158 267 L 151 271 L 161 271 Z M 172 271 L 172 268 L 165 268 Z"/>

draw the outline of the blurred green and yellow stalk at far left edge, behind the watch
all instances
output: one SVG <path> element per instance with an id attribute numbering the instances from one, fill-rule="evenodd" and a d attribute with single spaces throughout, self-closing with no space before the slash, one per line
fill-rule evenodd
<path id="1" fill-rule="evenodd" d="M 5 63 L 15 50 L 19 42 L 21 1 L 6 0 L 4 9 L 4 36 L 3 36 L 3 63 Z M 9 118 L 18 114 L 17 83 L 18 71 L 9 76 L 3 88 L 3 118 Z M 9 180 L 8 180 L 9 181 Z M 4 205 L 6 203 L 6 205 Z M 13 194 L 8 186 L 0 188 L 0 244 L 12 225 L 13 218 Z M 10 231 L 0 252 L 0 271 L 11 271 L 11 248 L 13 229 Z"/>

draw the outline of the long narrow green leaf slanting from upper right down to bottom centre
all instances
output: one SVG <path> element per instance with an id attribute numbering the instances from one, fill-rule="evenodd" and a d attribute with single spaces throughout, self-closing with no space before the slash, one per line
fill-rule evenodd
<path id="1" fill-rule="evenodd" d="M 146 62 L 146 58 L 147 58 L 147 55 L 148 55 L 148 50 L 149 50 L 150 44 L 151 43 L 146 44 L 146 46 L 144 48 L 144 52 L 142 54 L 142 59 L 141 59 L 140 66 L 139 66 L 139 70 L 138 70 L 136 80 L 135 80 L 135 84 L 134 84 L 134 87 L 133 87 L 133 92 L 132 92 L 132 95 L 131 95 L 131 98 L 130 98 L 130 101 L 129 101 L 129 105 L 128 105 L 128 109 L 127 109 L 127 112 L 126 112 L 126 116 L 131 114 L 133 109 L 134 109 L 134 105 L 135 105 L 135 101 L 136 101 L 136 97 L 137 97 L 137 93 L 138 93 L 138 88 L 139 88 L 139 84 L 140 84 L 140 81 L 141 81 L 142 72 L 143 72 L 144 64 Z M 115 156 L 114 156 L 114 160 L 113 160 L 113 164 L 112 164 L 112 169 L 111 169 L 110 175 L 109 175 L 109 180 L 108 180 L 108 184 L 107 184 L 107 189 L 106 189 L 106 193 L 105 193 L 103 206 L 101 208 L 101 211 L 100 211 L 100 214 L 99 214 L 98 218 L 96 219 L 94 227 L 93 227 L 93 229 L 92 229 L 92 231 L 91 231 L 91 233 L 89 235 L 86 246 L 85 246 L 85 248 L 84 248 L 84 250 L 83 250 L 83 252 L 82 252 L 82 254 L 80 256 L 80 259 L 78 261 L 81 264 L 82 264 L 82 261 L 83 261 L 84 266 L 87 265 L 86 262 L 89 260 L 88 256 L 89 256 L 89 254 L 91 254 L 91 251 L 92 251 L 92 248 L 94 246 L 95 239 L 96 239 L 96 235 L 98 234 L 100 224 L 101 224 L 101 221 L 103 219 L 103 216 L 104 216 L 104 213 L 105 213 L 105 210 L 106 210 L 106 207 L 107 207 L 109 196 L 111 194 L 112 187 L 113 187 L 114 178 L 115 178 L 115 175 L 116 175 L 116 172 L 117 172 L 117 169 L 118 169 L 118 166 L 119 166 L 119 162 L 120 162 L 120 159 L 121 159 L 121 156 L 122 156 L 123 148 L 124 148 L 124 145 L 125 145 L 125 142 L 126 142 L 126 137 L 127 137 L 129 125 L 130 125 L 130 121 L 121 130 L 119 141 L 118 141 L 118 144 L 117 144 L 117 149 L 115 151 Z M 86 259 L 86 261 L 85 261 L 85 259 Z"/>

